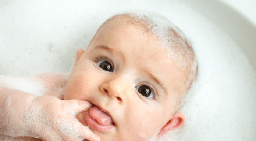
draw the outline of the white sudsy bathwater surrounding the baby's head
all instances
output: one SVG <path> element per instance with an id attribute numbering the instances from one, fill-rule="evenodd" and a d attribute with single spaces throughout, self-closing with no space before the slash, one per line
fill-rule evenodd
<path id="1" fill-rule="evenodd" d="M 141 9 L 164 15 L 191 42 L 199 70 L 197 81 L 181 109 L 186 115 L 184 126 L 159 140 L 256 139 L 255 71 L 224 31 L 186 5 L 175 0 L 121 3 L 115 0 L 77 3 L 25 0 L 0 4 L 0 27 L 4 27 L 0 28 L 1 75 L 67 73 L 75 51 L 85 49 L 99 26 L 112 14 L 124 9 Z M 145 136 L 141 134 L 141 137 Z"/>

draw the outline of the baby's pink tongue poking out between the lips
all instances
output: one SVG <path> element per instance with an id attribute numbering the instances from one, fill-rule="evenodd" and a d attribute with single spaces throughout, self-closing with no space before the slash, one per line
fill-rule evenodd
<path id="1" fill-rule="evenodd" d="M 101 111 L 97 106 L 90 108 L 89 115 L 100 125 L 108 126 L 113 123 L 110 116 L 107 113 Z"/>

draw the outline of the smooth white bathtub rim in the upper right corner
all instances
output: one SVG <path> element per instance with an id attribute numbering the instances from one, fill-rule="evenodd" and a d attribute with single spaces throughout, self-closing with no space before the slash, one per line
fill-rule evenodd
<path id="1" fill-rule="evenodd" d="M 256 70 L 255 0 L 181 0 L 226 31 Z"/>

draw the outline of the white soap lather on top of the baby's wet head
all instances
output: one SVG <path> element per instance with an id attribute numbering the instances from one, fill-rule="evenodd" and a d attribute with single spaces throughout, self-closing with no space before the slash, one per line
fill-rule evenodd
<path id="1" fill-rule="evenodd" d="M 159 47 L 170 53 L 168 57 L 171 57 L 182 69 L 194 65 L 192 71 L 195 75 L 197 63 L 193 57 L 193 51 L 189 48 L 190 45 L 186 41 L 185 35 L 177 26 L 163 15 L 155 12 L 132 10 L 121 12 L 121 14 L 127 14 L 145 26 L 145 29 L 154 35 Z"/>

